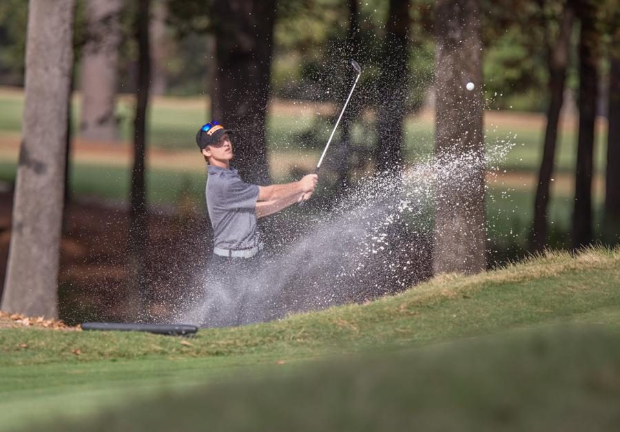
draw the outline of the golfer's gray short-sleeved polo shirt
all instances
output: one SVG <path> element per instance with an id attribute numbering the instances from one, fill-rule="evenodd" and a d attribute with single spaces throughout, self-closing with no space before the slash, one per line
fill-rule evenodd
<path id="1" fill-rule="evenodd" d="M 236 169 L 209 165 L 207 211 L 214 247 L 248 249 L 258 245 L 256 200 L 258 185 L 241 180 Z"/>

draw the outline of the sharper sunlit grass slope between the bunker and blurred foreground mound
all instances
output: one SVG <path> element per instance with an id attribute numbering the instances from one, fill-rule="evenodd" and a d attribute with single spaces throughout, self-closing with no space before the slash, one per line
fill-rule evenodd
<path id="1" fill-rule="evenodd" d="M 28 413 L 39 413 L 41 422 L 51 413 L 91 413 L 240 373 L 252 380 L 285 373 L 303 382 L 302 369 L 315 368 L 311 360 L 335 354 L 412 347 L 424 353 L 437 342 L 562 322 L 620 327 L 619 286 L 620 249 L 601 249 L 577 258 L 550 254 L 477 276 L 442 276 L 366 305 L 203 330 L 190 345 L 133 333 L 3 330 L 0 393 L 10 398 L 0 398 L 0 428 L 22 424 Z M 276 366 L 278 360 L 286 364 Z"/>

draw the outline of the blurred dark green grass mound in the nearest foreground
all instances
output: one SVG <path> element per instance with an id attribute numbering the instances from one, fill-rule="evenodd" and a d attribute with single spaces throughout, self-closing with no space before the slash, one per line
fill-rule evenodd
<path id="1" fill-rule="evenodd" d="M 619 340 L 619 331 L 562 327 L 270 369 L 154 391 L 45 429 L 615 431 Z"/>

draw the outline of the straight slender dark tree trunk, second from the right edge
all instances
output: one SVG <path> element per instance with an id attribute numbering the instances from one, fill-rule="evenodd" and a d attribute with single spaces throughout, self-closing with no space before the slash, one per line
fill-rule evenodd
<path id="1" fill-rule="evenodd" d="M 581 19 L 579 35 L 579 136 L 575 169 L 575 206 L 572 245 L 575 249 L 592 243 L 592 174 L 595 119 L 598 94 L 598 45 L 595 6 L 589 0 L 577 2 Z"/>

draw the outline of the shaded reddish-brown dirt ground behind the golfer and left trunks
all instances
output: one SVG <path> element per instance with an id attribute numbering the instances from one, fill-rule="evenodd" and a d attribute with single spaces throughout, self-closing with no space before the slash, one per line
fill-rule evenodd
<path id="1" fill-rule="evenodd" d="M 10 242 L 12 193 L 0 192 L 0 280 L 6 275 Z M 132 313 L 129 294 L 125 208 L 95 201 L 75 200 L 65 209 L 59 272 L 60 318 L 123 320 Z M 170 298 L 183 295 L 188 267 L 206 260 L 210 239 L 207 220 L 193 214 L 149 215 L 145 268 L 147 284 L 157 309 Z M 166 311 L 154 310 L 153 315 Z M 4 317 L 4 325 L 7 325 Z M 31 317 L 34 320 L 33 317 Z M 10 323 L 14 324 L 14 322 Z"/>

